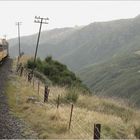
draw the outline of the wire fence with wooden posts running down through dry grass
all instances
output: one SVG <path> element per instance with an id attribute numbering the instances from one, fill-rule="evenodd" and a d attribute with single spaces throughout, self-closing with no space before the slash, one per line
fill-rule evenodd
<path id="1" fill-rule="evenodd" d="M 59 88 L 55 87 L 50 91 L 48 101 L 44 102 L 46 85 L 35 76 L 33 76 L 32 80 L 29 81 L 28 73 L 28 70 L 19 69 L 18 75 L 21 76 L 25 86 L 32 86 L 31 90 L 33 90 L 33 96 L 36 97 L 39 103 L 44 104 L 46 109 L 59 110 L 59 113 L 62 114 L 63 118 L 66 118 L 68 125 L 67 128 L 70 135 L 80 139 L 100 138 L 100 130 L 98 129 L 99 131 L 97 131 L 93 121 L 86 119 L 86 116 L 80 116 L 80 109 L 75 107 L 70 101 L 67 101 L 67 103 L 62 102 L 63 93 L 65 91 L 61 91 L 61 94 L 58 92 Z M 95 130 L 97 137 L 94 135 Z"/>

